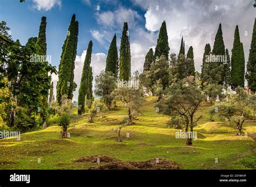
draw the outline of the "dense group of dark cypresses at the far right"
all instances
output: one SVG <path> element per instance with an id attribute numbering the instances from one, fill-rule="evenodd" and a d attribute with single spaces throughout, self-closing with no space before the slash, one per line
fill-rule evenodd
<path id="1" fill-rule="evenodd" d="M 250 49 L 249 61 L 247 63 L 247 73 L 245 75 L 245 55 L 242 42 L 240 41 L 238 25 L 235 27 L 232 56 L 230 59 L 228 49 L 225 50 L 223 32 L 221 30 L 220 24 L 217 34 L 215 36 L 212 51 L 210 44 L 205 45 L 203 65 L 201 66 L 201 80 L 203 82 L 203 86 L 213 83 L 224 85 L 225 88 L 229 86 L 231 86 L 232 89 L 237 88 L 238 86 L 244 88 L 246 77 L 248 80 L 248 87 L 253 92 L 255 92 L 255 34 L 256 33 L 254 20 L 252 44 Z M 206 56 L 209 56 L 211 54 L 225 56 L 225 63 L 207 62 Z M 253 66 L 254 68 L 252 68 Z"/>

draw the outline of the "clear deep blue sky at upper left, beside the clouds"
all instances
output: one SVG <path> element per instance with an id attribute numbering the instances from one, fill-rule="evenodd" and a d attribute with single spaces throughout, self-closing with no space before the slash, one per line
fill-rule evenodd
<path id="1" fill-rule="evenodd" d="M 79 21 L 77 54 L 82 54 L 90 40 L 93 40 L 93 52 L 107 53 L 107 46 L 100 45 L 92 37 L 90 31 L 97 30 L 97 27 L 99 27 L 95 16 L 98 12 L 97 5 L 99 5 L 100 11 L 111 10 L 112 5 L 105 6 L 103 2 L 96 1 L 88 3 L 89 1 L 66 0 L 59 1 L 61 5 L 55 4 L 50 10 L 43 9 L 44 6 L 41 6 L 41 10 L 38 10 L 40 3 L 37 4 L 36 2 L 39 1 L 25 0 L 24 3 L 20 3 L 18 0 L 1 0 L 1 20 L 5 20 L 11 28 L 13 39 L 19 39 L 24 45 L 30 37 L 36 37 L 41 17 L 45 16 L 47 18 L 46 42 L 48 43 L 48 54 L 52 57 L 52 64 L 58 65 L 62 52 L 61 46 L 65 40 L 71 16 L 75 13 L 76 19 Z M 122 28 L 117 28 L 114 31 L 120 33 L 121 30 Z"/>

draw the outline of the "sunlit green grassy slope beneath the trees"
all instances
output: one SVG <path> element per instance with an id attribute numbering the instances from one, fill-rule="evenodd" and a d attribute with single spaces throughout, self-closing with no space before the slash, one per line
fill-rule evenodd
<path id="1" fill-rule="evenodd" d="M 175 138 L 177 130 L 167 128 L 169 117 L 155 111 L 155 100 L 147 97 L 136 125 L 122 129 L 123 142 L 116 141 L 113 128 L 126 116 L 124 108 L 103 112 L 105 118 L 98 116 L 93 124 L 87 123 L 86 115 L 82 116 L 70 125 L 69 139 L 60 138 L 61 130 L 56 125 L 24 133 L 21 141 L 2 139 L 0 169 L 86 169 L 95 163 L 73 160 L 101 154 L 124 161 L 173 160 L 183 169 L 251 169 L 242 161 L 255 160 L 255 141 L 249 136 L 234 135 L 232 128 L 223 123 L 210 123 L 207 113 L 210 104 L 203 104 L 197 112 L 197 116 L 201 113 L 204 116 L 194 128 L 198 139 L 193 141 L 193 146 L 186 146 L 184 139 Z M 244 131 L 255 134 L 255 121 L 246 121 Z M 126 133 L 130 133 L 130 138 L 126 138 Z M 37 162 L 38 158 L 41 163 Z"/>

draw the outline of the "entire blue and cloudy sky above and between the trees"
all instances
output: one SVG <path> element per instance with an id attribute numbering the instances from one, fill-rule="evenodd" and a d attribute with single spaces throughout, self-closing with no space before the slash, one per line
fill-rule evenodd
<path id="1" fill-rule="evenodd" d="M 205 44 L 213 46 L 219 23 L 230 55 L 234 29 L 239 26 L 247 62 L 256 10 L 253 3 L 254 0 L 25 0 L 24 3 L 0 0 L 0 18 L 11 28 L 12 38 L 24 45 L 30 37 L 37 37 L 41 17 L 45 16 L 47 53 L 51 55 L 51 63 L 58 67 L 70 19 L 75 13 L 79 21 L 75 82 L 79 85 L 88 42 L 93 42 L 91 66 L 95 77 L 105 68 L 107 49 L 115 32 L 119 47 L 125 21 L 130 30 L 132 71 L 142 70 L 147 51 L 156 46 L 163 20 L 170 53 L 179 52 L 183 36 L 185 52 L 190 46 L 194 48 L 196 70 L 201 70 Z M 58 77 L 52 79 L 56 86 Z M 74 100 L 77 95 L 78 89 Z"/>

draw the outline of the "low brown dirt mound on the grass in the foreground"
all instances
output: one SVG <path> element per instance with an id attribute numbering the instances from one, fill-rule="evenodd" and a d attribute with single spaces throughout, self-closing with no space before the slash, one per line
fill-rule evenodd
<path id="1" fill-rule="evenodd" d="M 76 160 L 75 162 L 94 162 L 99 163 L 98 166 L 89 168 L 90 170 L 134 170 L 134 169 L 181 169 L 180 164 L 174 161 L 165 160 L 165 159 L 150 159 L 147 161 L 120 161 L 113 159 L 110 156 L 106 155 L 93 155 L 85 156 Z M 100 164 L 100 163 L 104 164 Z"/>

